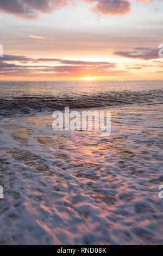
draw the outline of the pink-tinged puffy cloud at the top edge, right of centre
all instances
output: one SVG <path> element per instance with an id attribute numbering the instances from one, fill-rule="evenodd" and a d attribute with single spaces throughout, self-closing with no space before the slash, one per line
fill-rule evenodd
<path id="1" fill-rule="evenodd" d="M 92 0 L 90 0 L 91 2 Z M 127 14 L 131 11 L 131 2 L 129 0 L 99 0 L 92 6 L 92 11 L 101 14 Z"/>

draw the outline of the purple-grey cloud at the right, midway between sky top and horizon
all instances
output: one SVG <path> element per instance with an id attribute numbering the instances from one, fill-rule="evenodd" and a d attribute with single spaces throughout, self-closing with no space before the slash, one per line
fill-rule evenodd
<path id="1" fill-rule="evenodd" d="M 143 59 L 143 60 L 149 60 L 149 59 L 158 59 L 158 49 L 150 49 L 145 47 L 136 47 L 134 48 L 134 51 L 127 52 L 127 51 L 118 51 L 114 52 L 115 55 L 131 58 L 131 59 Z"/>

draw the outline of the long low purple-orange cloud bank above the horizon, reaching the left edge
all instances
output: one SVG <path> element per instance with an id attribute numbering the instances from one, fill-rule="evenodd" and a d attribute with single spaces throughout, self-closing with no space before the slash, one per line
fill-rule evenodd
<path id="1" fill-rule="evenodd" d="M 12 63 L 11 63 L 12 62 Z M 20 63 L 20 64 L 15 64 Z M 40 65 L 41 62 L 41 65 Z M 55 65 L 49 63 L 57 63 Z M 24 65 L 24 63 L 27 63 Z M 34 64 L 35 63 L 35 64 Z M 42 65 L 42 63 L 44 63 Z M 48 63 L 48 64 L 47 64 Z M 115 63 L 84 62 L 81 60 L 65 60 L 26 56 L 5 55 L 0 58 L 0 76 L 18 77 L 84 77 L 123 75 L 127 71 L 116 69 Z"/>

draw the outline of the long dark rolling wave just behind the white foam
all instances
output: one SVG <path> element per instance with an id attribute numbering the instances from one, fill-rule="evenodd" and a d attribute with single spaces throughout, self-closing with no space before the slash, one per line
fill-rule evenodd
<path id="1" fill-rule="evenodd" d="M 163 90 L 140 92 L 105 92 L 94 94 L 61 94 L 58 96 L 18 96 L 0 98 L 0 114 L 28 114 L 42 111 L 89 109 L 132 104 L 155 104 L 163 99 Z M 162 103 L 162 102 L 161 102 Z"/>

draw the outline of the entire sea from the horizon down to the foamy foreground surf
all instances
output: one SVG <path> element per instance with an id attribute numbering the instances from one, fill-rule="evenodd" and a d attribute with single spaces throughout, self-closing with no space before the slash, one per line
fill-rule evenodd
<path id="1" fill-rule="evenodd" d="M 162 84 L 0 82 L 0 244 L 163 244 Z M 111 135 L 54 131 L 67 106 Z"/>

